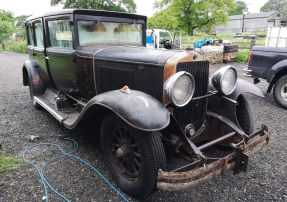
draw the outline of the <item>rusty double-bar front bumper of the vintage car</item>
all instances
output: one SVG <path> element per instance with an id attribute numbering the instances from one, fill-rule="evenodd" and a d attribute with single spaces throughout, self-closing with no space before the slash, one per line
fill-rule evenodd
<path id="1" fill-rule="evenodd" d="M 212 179 L 230 168 L 234 168 L 234 173 L 246 172 L 249 156 L 265 147 L 269 137 L 268 128 L 262 125 L 261 130 L 238 144 L 232 144 L 234 152 L 224 158 L 206 158 L 171 172 L 159 170 L 157 187 L 164 190 L 184 190 Z M 199 166 L 201 167 L 198 168 Z"/>

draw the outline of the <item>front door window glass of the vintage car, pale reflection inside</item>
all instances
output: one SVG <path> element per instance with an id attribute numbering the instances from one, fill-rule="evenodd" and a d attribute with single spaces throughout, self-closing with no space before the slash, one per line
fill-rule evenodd
<path id="1" fill-rule="evenodd" d="M 58 48 L 73 48 L 72 26 L 69 20 L 48 21 L 50 46 Z"/>

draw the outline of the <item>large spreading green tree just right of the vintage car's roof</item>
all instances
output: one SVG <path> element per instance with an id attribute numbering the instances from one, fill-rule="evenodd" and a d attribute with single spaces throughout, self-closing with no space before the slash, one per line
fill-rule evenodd
<path id="1" fill-rule="evenodd" d="M 148 26 L 181 30 L 193 35 L 195 29 L 211 29 L 226 24 L 228 11 L 235 8 L 234 0 L 159 0 L 160 11 L 148 19 Z"/>

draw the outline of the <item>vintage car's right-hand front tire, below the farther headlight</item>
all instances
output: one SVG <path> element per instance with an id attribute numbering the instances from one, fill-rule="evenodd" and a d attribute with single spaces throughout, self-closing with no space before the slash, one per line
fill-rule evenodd
<path id="1" fill-rule="evenodd" d="M 240 95 L 237 99 L 238 105 L 236 106 L 236 118 L 241 129 L 250 135 L 255 130 L 255 113 L 249 101 Z"/>

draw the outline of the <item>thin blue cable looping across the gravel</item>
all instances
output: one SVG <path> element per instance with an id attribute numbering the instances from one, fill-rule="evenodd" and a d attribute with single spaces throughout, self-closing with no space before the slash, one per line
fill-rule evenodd
<path id="1" fill-rule="evenodd" d="M 74 153 L 75 151 L 78 150 L 78 143 L 77 143 L 75 140 L 70 139 L 70 138 L 64 138 L 64 139 L 73 141 L 74 144 L 76 145 L 76 149 L 74 149 L 73 151 L 71 151 L 71 152 L 69 152 L 69 153 L 66 153 L 66 152 L 65 152 L 59 145 L 57 145 L 57 144 L 53 144 L 53 143 L 39 143 L 39 144 L 36 144 L 36 145 L 33 145 L 33 146 L 29 147 L 29 148 L 26 149 L 26 150 L 24 151 L 24 153 L 23 153 L 23 159 L 24 159 L 24 161 L 26 161 L 26 162 L 30 163 L 32 166 L 34 166 L 34 167 L 36 168 L 36 170 L 38 171 L 40 177 L 41 177 L 41 180 L 42 180 L 42 183 L 43 183 L 43 186 L 44 186 L 44 189 L 45 189 L 46 202 L 49 201 L 49 199 L 48 199 L 47 185 L 48 185 L 48 187 L 49 187 L 53 192 L 55 192 L 57 195 L 61 196 L 64 200 L 70 202 L 65 196 L 63 196 L 62 194 L 60 194 L 57 190 L 55 190 L 55 189 L 48 183 L 48 181 L 46 180 L 46 178 L 44 177 L 44 174 L 43 174 L 44 168 L 45 168 L 49 163 L 51 163 L 51 162 L 53 162 L 53 161 L 55 161 L 55 160 L 57 160 L 57 159 L 59 159 L 59 158 L 65 157 L 65 156 L 69 156 L 69 157 L 76 158 L 76 159 L 80 160 L 81 162 L 85 163 L 86 165 L 88 165 L 89 167 L 91 167 L 91 168 L 92 168 L 94 171 L 96 171 L 97 174 L 98 174 L 101 178 L 103 178 L 103 179 L 106 181 L 106 183 L 107 183 L 111 188 L 113 188 L 125 201 L 129 202 L 128 199 L 127 199 L 124 195 L 122 195 L 96 168 L 94 168 L 92 165 L 90 165 L 89 163 L 87 163 L 86 161 L 84 161 L 83 159 L 81 159 L 80 157 L 72 155 L 72 153 Z M 58 157 L 55 157 L 55 158 L 49 160 L 49 161 L 41 168 L 41 170 L 40 170 L 34 163 L 28 161 L 28 160 L 25 158 L 25 155 L 26 155 L 26 153 L 27 153 L 30 149 L 32 149 L 32 148 L 34 148 L 34 147 L 37 147 L 37 146 L 41 146 L 41 145 L 55 146 L 55 147 L 57 147 L 57 148 L 63 153 L 63 155 L 58 156 Z"/>

